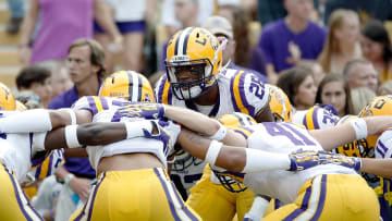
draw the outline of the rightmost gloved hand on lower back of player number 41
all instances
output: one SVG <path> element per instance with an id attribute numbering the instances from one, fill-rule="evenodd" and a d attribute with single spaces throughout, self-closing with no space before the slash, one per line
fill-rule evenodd
<path id="1" fill-rule="evenodd" d="M 362 168 L 360 158 L 347 157 L 344 155 L 328 151 L 319 151 L 318 155 L 319 158 L 323 161 L 322 164 L 336 164 L 354 169 L 355 171 L 359 171 L 359 169 Z"/>

